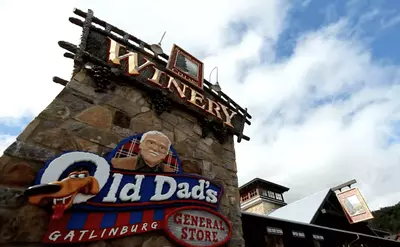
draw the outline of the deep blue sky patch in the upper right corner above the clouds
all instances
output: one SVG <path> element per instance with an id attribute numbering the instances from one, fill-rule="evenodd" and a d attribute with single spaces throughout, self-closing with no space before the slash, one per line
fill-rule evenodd
<path id="1" fill-rule="evenodd" d="M 400 62 L 399 1 L 297 1 L 288 16 L 288 28 L 277 43 L 277 59 L 293 54 L 296 40 L 310 31 L 346 19 L 350 35 L 370 45 L 374 59 Z M 307 1 L 308 2 L 308 1 Z"/>

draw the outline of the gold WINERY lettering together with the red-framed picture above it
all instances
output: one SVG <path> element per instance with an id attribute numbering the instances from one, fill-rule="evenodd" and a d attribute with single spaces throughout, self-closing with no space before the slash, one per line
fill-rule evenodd
<path id="1" fill-rule="evenodd" d="M 126 68 L 124 68 L 123 72 L 127 76 L 139 76 L 141 72 L 146 71 L 150 74 L 145 78 L 148 83 L 159 88 L 168 89 L 175 93 L 180 100 L 190 103 L 199 110 L 217 117 L 226 126 L 234 128 L 232 119 L 237 112 L 232 111 L 232 109 L 221 102 L 204 96 L 201 92 L 203 89 L 203 64 L 186 51 L 174 45 L 171 52 L 173 55 L 168 63 L 168 68 L 171 72 L 174 72 L 176 76 L 169 76 L 157 68 L 154 62 L 151 62 L 144 56 L 140 56 L 138 52 L 128 51 L 126 47 L 111 38 L 107 38 L 107 43 L 107 47 L 109 47 L 107 60 L 117 65 L 120 65 L 121 62 L 124 61 Z M 183 60 L 183 62 L 179 62 L 180 60 Z M 192 61 L 196 61 L 196 63 Z M 189 68 L 192 68 L 191 70 L 187 68 L 188 66 L 186 64 L 188 63 L 191 64 L 191 66 L 189 66 Z M 180 77 L 180 79 L 176 77 Z M 187 85 L 181 82 L 184 79 L 190 82 L 190 85 L 189 83 Z"/>

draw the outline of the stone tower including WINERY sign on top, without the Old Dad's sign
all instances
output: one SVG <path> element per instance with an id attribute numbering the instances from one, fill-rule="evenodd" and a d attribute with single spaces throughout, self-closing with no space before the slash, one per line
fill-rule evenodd
<path id="1" fill-rule="evenodd" d="M 65 86 L 63 90 L 0 158 L 0 245 L 42 245 L 52 227 L 52 208 L 29 203 L 26 188 L 43 183 L 50 160 L 69 151 L 107 157 L 126 138 L 154 130 L 170 140 L 182 173 L 222 186 L 218 212 L 232 226 L 223 246 L 244 246 L 233 136 L 239 142 L 249 140 L 243 129 L 250 115 L 203 80 L 202 64 L 197 71 L 201 80 L 172 68 L 170 60 L 183 50 L 171 57 L 155 54 L 150 45 L 94 17 L 92 11 L 74 13 L 83 18 L 69 19 L 82 27 L 81 43 L 59 42 L 68 51 L 65 57 L 74 59 L 72 78 L 53 79 Z M 190 54 L 186 58 L 196 61 Z M 88 242 L 76 240 L 74 245 L 177 246 L 163 231 Z"/>

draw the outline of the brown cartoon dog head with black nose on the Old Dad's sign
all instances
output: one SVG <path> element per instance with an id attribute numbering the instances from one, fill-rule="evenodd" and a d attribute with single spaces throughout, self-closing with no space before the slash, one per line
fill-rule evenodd
<path id="1" fill-rule="evenodd" d="M 74 171 L 61 181 L 31 186 L 25 191 L 31 204 L 44 206 L 53 203 L 52 219 L 60 219 L 64 211 L 72 206 L 78 193 L 99 193 L 99 183 L 88 171 Z"/>

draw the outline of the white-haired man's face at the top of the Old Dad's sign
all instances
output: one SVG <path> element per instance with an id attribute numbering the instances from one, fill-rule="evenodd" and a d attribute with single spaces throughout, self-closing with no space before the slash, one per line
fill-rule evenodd
<path id="1" fill-rule="evenodd" d="M 140 154 L 150 167 L 160 164 L 168 154 L 171 143 L 163 134 L 147 132 L 140 142 Z"/>

